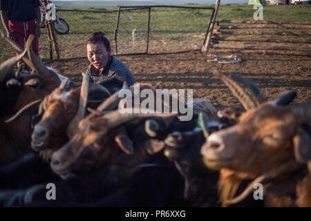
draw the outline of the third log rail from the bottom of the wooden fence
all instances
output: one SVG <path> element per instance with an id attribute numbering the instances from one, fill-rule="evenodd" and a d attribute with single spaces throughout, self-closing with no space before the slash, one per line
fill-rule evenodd
<path id="1" fill-rule="evenodd" d="M 261 38 L 261 37 L 215 37 L 213 38 L 213 40 L 311 44 L 311 40 L 309 39 L 276 39 L 276 38 Z"/>

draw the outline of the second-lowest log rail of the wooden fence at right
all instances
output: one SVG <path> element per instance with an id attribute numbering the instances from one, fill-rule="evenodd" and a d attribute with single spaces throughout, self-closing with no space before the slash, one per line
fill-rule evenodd
<path id="1" fill-rule="evenodd" d="M 296 51 L 308 51 L 311 52 L 311 47 L 296 47 L 296 46 L 279 46 L 279 45 L 245 45 L 245 44 L 216 44 L 211 45 L 211 48 L 223 48 L 223 49 L 253 49 L 253 50 L 296 50 Z"/>

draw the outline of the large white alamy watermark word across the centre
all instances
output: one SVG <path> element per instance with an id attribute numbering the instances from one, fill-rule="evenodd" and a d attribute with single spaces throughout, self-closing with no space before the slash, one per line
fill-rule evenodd
<path id="1" fill-rule="evenodd" d="M 189 121 L 193 117 L 192 89 L 156 89 L 144 88 L 134 84 L 134 90 L 122 89 L 118 97 L 120 113 L 178 113 L 181 121 Z M 185 102 L 187 92 L 187 103 Z"/>

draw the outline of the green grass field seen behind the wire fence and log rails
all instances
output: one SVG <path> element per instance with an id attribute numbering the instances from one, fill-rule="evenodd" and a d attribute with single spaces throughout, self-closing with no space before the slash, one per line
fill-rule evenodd
<path id="1" fill-rule="evenodd" d="M 187 6 L 196 5 L 199 7 L 213 7 L 214 5 L 197 5 L 193 3 Z M 224 4 L 220 5 L 217 19 L 243 19 L 253 20 L 254 6 L 247 4 Z M 117 8 L 109 8 L 109 11 Z M 80 9 L 81 10 L 81 9 Z M 106 8 L 86 8 L 86 10 L 107 11 Z M 290 21 L 311 21 L 311 6 L 264 6 L 263 19 L 272 21 L 290 20 Z M 120 15 L 119 34 L 117 35 L 118 44 L 131 45 L 132 33 L 135 30 L 137 41 L 142 39 L 145 44 L 148 29 L 148 9 L 133 10 L 122 12 Z M 113 32 L 116 27 L 117 12 L 67 12 L 59 11 L 57 16 L 65 19 L 70 27 L 67 35 L 56 35 L 57 43 L 62 58 L 79 57 L 85 55 L 85 42 L 91 33 L 102 31 L 107 34 L 114 46 Z M 206 33 L 211 10 L 190 10 L 180 8 L 152 8 L 151 9 L 151 32 L 150 42 L 156 45 L 157 42 L 167 42 L 166 47 L 185 47 L 194 41 L 194 36 L 201 36 Z M 3 27 L 0 26 L 3 30 Z M 47 61 L 49 59 L 49 43 L 47 39 L 47 29 L 41 29 L 41 37 L 39 39 L 39 54 L 41 59 Z M 121 34 L 122 33 L 122 34 Z M 204 35 L 202 35 L 204 38 Z M 182 39 L 184 37 L 184 39 Z M 169 41 L 170 38 L 182 39 L 180 41 Z M 176 44 L 176 45 L 174 45 Z M 194 43 L 193 43 L 194 44 Z M 133 44 L 132 44 L 133 46 Z M 164 46 L 164 43 L 162 43 Z M 0 38 L 0 62 L 15 55 L 14 50 Z M 124 50 L 120 48 L 120 50 Z M 131 50 L 131 49 L 129 49 Z"/>

